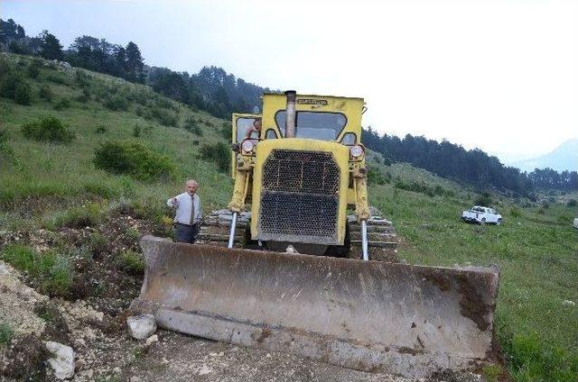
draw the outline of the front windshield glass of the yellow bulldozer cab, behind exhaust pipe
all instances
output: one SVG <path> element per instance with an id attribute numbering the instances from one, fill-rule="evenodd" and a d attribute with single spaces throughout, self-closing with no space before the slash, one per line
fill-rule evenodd
<path id="1" fill-rule="evenodd" d="M 275 123 L 285 136 L 287 113 L 280 110 L 275 114 Z M 335 141 L 347 123 L 345 115 L 329 112 L 296 112 L 295 138 L 311 138 L 321 141 Z"/>

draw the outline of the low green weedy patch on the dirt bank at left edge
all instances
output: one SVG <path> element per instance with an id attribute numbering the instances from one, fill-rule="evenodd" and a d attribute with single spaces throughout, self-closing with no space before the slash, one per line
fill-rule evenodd
<path id="1" fill-rule="evenodd" d="M 0 253 L 0 259 L 28 275 L 42 293 L 70 296 L 74 275 L 68 257 L 52 251 L 40 254 L 30 247 L 12 244 Z"/>

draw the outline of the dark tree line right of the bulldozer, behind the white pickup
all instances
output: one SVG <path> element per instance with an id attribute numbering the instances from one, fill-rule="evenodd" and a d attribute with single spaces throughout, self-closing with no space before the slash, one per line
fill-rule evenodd
<path id="1" fill-rule="evenodd" d="M 449 141 L 433 141 L 407 134 L 400 139 L 382 134 L 368 127 L 362 132 L 363 143 L 380 152 L 387 161 L 408 162 L 425 168 L 440 177 L 476 186 L 489 186 L 518 196 L 533 196 L 537 189 L 578 190 L 578 173 L 554 169 L 538 169 L 527 173 L 518 168 L 504 166 L 498 158 L 482 150 L 465 150 Z"/>

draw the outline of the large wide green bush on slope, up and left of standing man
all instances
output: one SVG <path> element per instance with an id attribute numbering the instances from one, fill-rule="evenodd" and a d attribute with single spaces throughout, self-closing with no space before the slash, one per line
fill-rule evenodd
<path id="1" fill-rule="evenodd" d="M 174 172 L 174 164 L 167 156 L 130 141 L 102 143 L 93 163 L 112 174 L 127 174 L 140 180 L 168 178 Z"/>

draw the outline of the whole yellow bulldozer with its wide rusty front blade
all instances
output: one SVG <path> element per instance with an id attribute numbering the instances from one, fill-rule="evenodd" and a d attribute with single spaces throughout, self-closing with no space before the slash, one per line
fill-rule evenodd
<path id="1" fill-rule="evenodd" d="M 196 244 L 141 240 L 132 309 L 178 332 L 406 377 L 493 361 L 498 269 L 396 262 L 393 225 L 368 205 L 364 110 L 362 98 L 288 91 L 265 94 L 262 114 L 233 114 L 228 209 Z"/>

